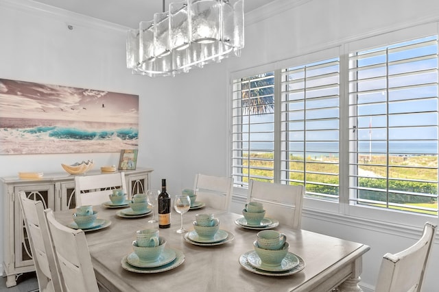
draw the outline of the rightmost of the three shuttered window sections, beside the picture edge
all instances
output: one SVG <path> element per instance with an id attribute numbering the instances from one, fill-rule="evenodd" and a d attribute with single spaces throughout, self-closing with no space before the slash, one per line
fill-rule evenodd
<path id="1" fill-rule="evenodd" d="M 438 38 L 349 56 L 350 199 L 438 213 Z"/>

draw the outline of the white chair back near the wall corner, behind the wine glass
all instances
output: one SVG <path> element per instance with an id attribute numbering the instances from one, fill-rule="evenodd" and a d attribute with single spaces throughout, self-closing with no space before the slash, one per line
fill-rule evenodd
<path id="1" fill-rule="evenodd" d="M 193 184 L 196 200 L 209 207 L 228 210 L 233 192 L 231 177 L 196 174 Z"/>

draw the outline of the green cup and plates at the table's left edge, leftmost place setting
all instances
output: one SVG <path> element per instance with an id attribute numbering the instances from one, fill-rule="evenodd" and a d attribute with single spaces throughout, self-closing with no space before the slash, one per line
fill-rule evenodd
<path id="1" fill-rule="evenodd" d="M 76 207 L 72 217 L 73 222 L 67 224 L 67 227 L 82 229 L 84 232 L 106 228 L 111 224 L 110 220 L 97 218 L 97 211 L 93 211 L 93 206 L 91 205 Z"/>

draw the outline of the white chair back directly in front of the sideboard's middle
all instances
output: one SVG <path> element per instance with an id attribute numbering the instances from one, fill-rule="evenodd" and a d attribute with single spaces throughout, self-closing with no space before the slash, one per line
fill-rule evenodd
<path id="1" fill-rule="evenodd" d="M 108 195 L 111 194 L 108 190 L 119 188 L 126 190 L 125 172 L 75 176 L 76 206 L 107 202 L 110 200 Z"/>

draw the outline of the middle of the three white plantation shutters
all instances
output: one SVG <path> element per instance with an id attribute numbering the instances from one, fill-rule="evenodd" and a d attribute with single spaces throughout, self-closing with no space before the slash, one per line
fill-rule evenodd
<path id="1" fill-rule="evenodd" d="M 281 181 L 337 200 L 340 59 L 286 68 L 281 80 Z"/>

